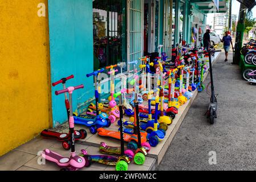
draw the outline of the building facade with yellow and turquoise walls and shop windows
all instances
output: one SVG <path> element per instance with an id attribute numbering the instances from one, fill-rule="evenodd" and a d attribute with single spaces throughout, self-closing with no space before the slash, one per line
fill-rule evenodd
<path id="1" fill-rule="evenodd" d="M 6 113 L 1 117 L 5 130 L 0 134 L 0 155 L 43 129 L 66 122 L 64 96 L 54 94 L 62 85 L 52 88 L 51 82 L 74 75 L 67 86 L 85 85 L 73 96 L 79 113 L 94 96 L 93 80 L 86 78 L 87 73 L 137 60 L 147 52 L 157 52 L 160 44 L 169 57 L 172 47 L 182 40 L 200 45 L 206 14 L 217 11 L 220 2 L 5 1 L 0 6 L 0 56 L 5 68 L 1 103 Z"/>

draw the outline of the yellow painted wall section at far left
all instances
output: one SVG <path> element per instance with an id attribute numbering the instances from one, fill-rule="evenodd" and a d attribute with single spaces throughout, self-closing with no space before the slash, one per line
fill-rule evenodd
<path id="1" fill-rule="evenodd" d="M 52 125 L 47 0 L 0 0 L 0 156 Z M 46 10 L 47 12 L 47 10 Z"/>

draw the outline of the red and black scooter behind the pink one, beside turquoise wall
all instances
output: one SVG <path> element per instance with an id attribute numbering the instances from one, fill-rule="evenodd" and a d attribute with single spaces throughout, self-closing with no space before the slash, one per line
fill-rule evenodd
<path id="1" fill-rule="evenodd" d="M 66 81 L 70 80 L 71 78 L 74 78 L 74 75 L 68 76 L 66 78 L 62 78 L 59 81 L 56 81 L 56 82 L 52 83 L 52 86 L 62 84 L 63 89 L 66 89 Z M 70 103 L 69 103 L 68 98 L 67 98 L 67 93 L 64 93 L 64 96 L 65 96 L 65 106 L 66 106 L 66 110 L 67 110 L 67 116 L 68 116 L 68 119 L 69 119 L 69 117 L 70 117 Z M 71 139 L 70 131 L 69 131 L 69 133 L 58 133 L 56 131 L 43 130 L 40 134 L 43 138 L 59 140 L 60 142 L 62 142 L 63 148 L 65 148 L 66 150 L 70 150 L 71 146 L 67 142 L 68 140 Z M 87 132 L 84 129 L 81 129 L 79 131 L 74 131 L 74 134 L 75 134 L 75 140 L 84 139 L 87 136 Z"/>

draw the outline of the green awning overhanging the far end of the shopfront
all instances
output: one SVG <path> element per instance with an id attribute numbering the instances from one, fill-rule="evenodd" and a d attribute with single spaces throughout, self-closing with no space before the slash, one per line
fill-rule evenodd
<path id="1" fill-rule="evenodd" d="M 226 13 L 225 0 L 191 0 L 203 13 Z"/>

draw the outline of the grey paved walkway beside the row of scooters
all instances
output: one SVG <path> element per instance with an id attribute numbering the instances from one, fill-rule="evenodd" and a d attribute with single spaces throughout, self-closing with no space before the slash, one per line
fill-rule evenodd
<path id="1" fill-rule="evenodd" d="M 213 66 L 217 122 L 210 125 L 204 115 L 210 96 L 198 93 L 158 170 L 256 169 L 256 88 L 242 80 L 238 65 L 230 64 L 231 52 L 229 62 L 224 59 L 221 53 Z M 209 164 L 210 151 L 216 152 L 216 164 Z"/>

